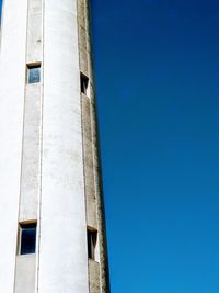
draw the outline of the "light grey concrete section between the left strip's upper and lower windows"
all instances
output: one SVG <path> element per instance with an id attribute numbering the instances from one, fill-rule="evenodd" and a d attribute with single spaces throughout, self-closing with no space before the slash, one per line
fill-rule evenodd
<path id="1" fill-rule="evenodd" d="M 26 86 L 21 177 L 20 222 L 36 219 L 39 189 L 41 84 Z"/>

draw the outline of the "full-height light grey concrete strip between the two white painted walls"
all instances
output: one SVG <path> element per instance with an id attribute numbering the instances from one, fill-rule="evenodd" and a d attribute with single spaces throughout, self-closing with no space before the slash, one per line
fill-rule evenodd
<path id="1" fill-rule="evenodd" d="M 28 0 L 24 66 L 42 61 L 42 0 Z M 27 84 L 27 70 L 25 82 L 19 222 L 38 219 L 41 188 L 42 83 Z M 37 255 L 16 256 L 14 293 L 35 292 Z"/>

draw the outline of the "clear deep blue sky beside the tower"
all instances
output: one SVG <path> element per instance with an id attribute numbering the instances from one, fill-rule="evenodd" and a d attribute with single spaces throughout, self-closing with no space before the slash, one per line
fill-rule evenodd
<path id="1" fill-rule="evenodd" d="M 218 293 L 219 2 L 91 2 L 112 293 Z"/>

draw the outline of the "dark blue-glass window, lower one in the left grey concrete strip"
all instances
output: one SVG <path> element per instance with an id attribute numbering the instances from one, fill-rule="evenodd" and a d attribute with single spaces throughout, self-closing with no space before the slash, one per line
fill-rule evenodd
<path id="1" fill-rule="evenodd" d="M 19 227 L 19 255 L 35 253 L 36 250 L 36 222 L 21 223 Z"/>

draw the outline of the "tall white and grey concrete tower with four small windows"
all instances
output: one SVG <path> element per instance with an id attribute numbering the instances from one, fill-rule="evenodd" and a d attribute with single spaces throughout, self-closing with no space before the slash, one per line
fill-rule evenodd
<path id="1" fill-rule="evenodd" d="M 4 0 L 0 292 L 107 293 L 88 0 Z"/>

